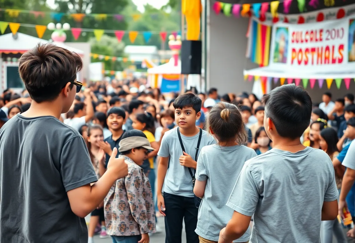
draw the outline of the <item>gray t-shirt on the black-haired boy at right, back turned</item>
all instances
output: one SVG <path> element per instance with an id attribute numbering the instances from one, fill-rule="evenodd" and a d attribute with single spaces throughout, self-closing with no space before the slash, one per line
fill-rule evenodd
<path id="1" fill-rule="evenodd" d="M 338 194 L 327 153 L 274 148 L 245 162 L 227 206 L 254 214 L 250 243 L 320 243 L 323 202 Z"/>

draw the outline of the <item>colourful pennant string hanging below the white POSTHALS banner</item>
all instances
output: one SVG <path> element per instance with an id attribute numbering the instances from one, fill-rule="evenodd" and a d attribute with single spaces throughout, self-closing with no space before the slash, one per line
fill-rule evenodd
<path id="1" fill-rule="evenodd" d="M 324 81 L 326 81 L 328 90 L 331 88 L 334 80 L 335 80 L 335 84 L 338 89 L 340 89 L 340 87 L 342 85 L 342 81 L 344 80 L 344 84 L 345 84 L 345 87 L 347 90 L 349 90 L 349 88 L 350 88 L 351 80 L 355 81 L 355 79 L 351 79 L 351 78 L 346 78 L 346 79 L 332 79 L 332 78 L 328 78 L 328 79 L 297 79 L 296 78 L 295 79 L 295 78 L 285 78 L 285 77 L 278 78 L 278 77 L 266 77 L 266 76 L 253 76 L 253 75 L 248 75 L 248 74 L 244 75 L 244 80 L 248 80 L 251 82 L 253 79 L 254 79 L 254 81 L 260 80 L 263 91 L 264 91 L 264 89 L 266 90 L 266 83 L 271 82 L 271 80 L 274 82 L 275 85 L 278 84 L 278 82 L 280 82 L 280 85 L 284 85 L 285 82 L 287 84 L 294 82 L 295 85 L 301 85 L 301 82 L 302 82 L 302 85 L 304 88 L 307 88 L 308 83 L 310 83 L 311 89 L 314 88 L 317 80 L 318 80 L 318 86 L 320 88 L 323 87 L 323 83 L 324 83 Z"/>

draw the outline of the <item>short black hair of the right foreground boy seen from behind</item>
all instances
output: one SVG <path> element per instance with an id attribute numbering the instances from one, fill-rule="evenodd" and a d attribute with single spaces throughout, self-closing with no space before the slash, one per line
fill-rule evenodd
<path id="1" fill-rule="evenodd" d="M 274 88 L 264 96 L 265 115 L 281 137 L 301 137 L 310 124 L 312 100 L 308 92 L 294 84 Z"/>

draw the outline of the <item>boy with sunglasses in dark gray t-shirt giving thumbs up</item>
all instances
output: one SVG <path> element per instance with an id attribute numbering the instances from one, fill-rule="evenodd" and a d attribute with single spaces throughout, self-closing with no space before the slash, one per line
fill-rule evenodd
<path id="1" fill-rule="evenodd" d="M 80 90 L 82 66 L 80 56 L 54 44 L 20 58 L 32 103 L 0 130 L 0 242 L 87 243 L 84 217 L 128 174 L 115 148 L 97 181 L 84 139 L 58 120 Z"/>

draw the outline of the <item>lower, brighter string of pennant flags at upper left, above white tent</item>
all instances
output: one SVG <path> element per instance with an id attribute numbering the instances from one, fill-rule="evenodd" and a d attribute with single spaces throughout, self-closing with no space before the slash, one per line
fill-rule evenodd
<path id="1" fill-rule="evenodd" d="M 20 26 L 35 28 L 38 38 L 42 38 L 43 34 L 47 30 L 47 26 L 45 25 L 32 25 L 32 24 L 0 21 L 0 33 L 4 34 L 7 27 L 9 27 L 12 34 L 16 34 Z M 75 40 L 79 38 L 82 32 L 93 32 L 97 41 L 100 41 L 104 33 L 115 33 L 115 36 L 119 42 L 122 41 L 122 38 L 125 36 L 125 34 L 128 34 L 131 43 L 135 42 L 138 34 L 143 35 L 144 41 L 146 43 L 150 41 L 153 34 L 159 34 L 162 42 L 165 42 L 166 37 L 168 36 L 168 32 L 166 31 L 121 31 L 121 30 L 110 30 L 110 29 L 86 29 L 86 28 L 70 28 L 70 31 Z M 169 33 L 173 34 L 176 38 L 176 36 L 181 34 L 181 31 L 171 31 Z"/>

